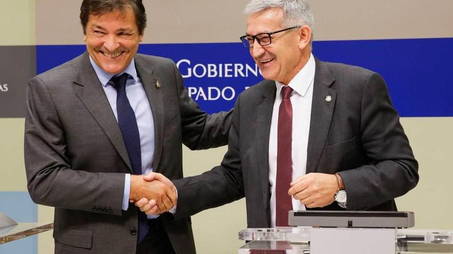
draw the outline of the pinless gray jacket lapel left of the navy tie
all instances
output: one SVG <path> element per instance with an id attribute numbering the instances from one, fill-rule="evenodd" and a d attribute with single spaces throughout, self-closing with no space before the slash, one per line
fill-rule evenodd
<path id="1" fill-rule="evenodd" d="M 81 68 L 74 81 L 75 84 L 82 86 L 76 91 L 80 101 L 90 111 L 93 118 L 106 133 L 121 158 L 129 167 L 132 173 L 132 166 L 124 144 L 123 135 L 116 122 L 112 107 L 107 99 L 107 95 L 102 89 L 102 85 L 90 63 L 88 53 L 84 53 L 80 62 Z"/>

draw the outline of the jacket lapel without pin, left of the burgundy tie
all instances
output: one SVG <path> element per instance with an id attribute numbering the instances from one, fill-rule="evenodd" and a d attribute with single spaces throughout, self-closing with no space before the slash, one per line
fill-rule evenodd
<path id="1" fill-rule="evenodd" d="M 269 134 L 272 121 L 272 109 L 275 100 L 275 82 L 265 81 L 262 92 L 262 100 L 256 108 L 256 142 L 257 161 L 259 162 L 259 179 L 262 184 L 263 204 L 266 204 L 270 214 L 270 193 L 269 193 Z M 268 216 L 270 218 L 270 215 Z"/>

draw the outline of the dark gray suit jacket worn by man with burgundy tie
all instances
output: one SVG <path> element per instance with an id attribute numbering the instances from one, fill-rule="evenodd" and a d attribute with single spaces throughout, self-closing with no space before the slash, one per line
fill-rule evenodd
<path id="1" fill-rule="evenodd" d="M 270 226 L 268 149 L 275 92 L 275 82 L 266 80 L 239 95 L 221 166 L 175 181 L 177 217 L 245 196 L 248 227 Z M 396 210 L 393 199 L 419 180 L 384 80 L 359 67 L 316 60 L 307 152 L 307 173 L 340 172 L 349 210 Z M 321 209 L 342 208 L 334 202 Z"/>

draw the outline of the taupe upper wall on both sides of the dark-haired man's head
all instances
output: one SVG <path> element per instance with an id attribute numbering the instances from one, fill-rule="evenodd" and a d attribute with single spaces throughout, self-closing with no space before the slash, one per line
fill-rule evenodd
<path id="1" fill-rule="evenodd" d="M 83 44 L 80 0 L 36 3 L 37 45 Z M 243 0 L 150 1 L 143 43 L 239 42 L 245 31 Z M 64 10 L 64 11 L 59 11 Z"/>

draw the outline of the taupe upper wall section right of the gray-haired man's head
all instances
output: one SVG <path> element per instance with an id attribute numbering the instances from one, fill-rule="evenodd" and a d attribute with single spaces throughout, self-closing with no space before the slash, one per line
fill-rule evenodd
<path id="1" fill-rule="evenodd" d="M 315 40 L 453 37 L 451 0 L 308 0 Z"/>

